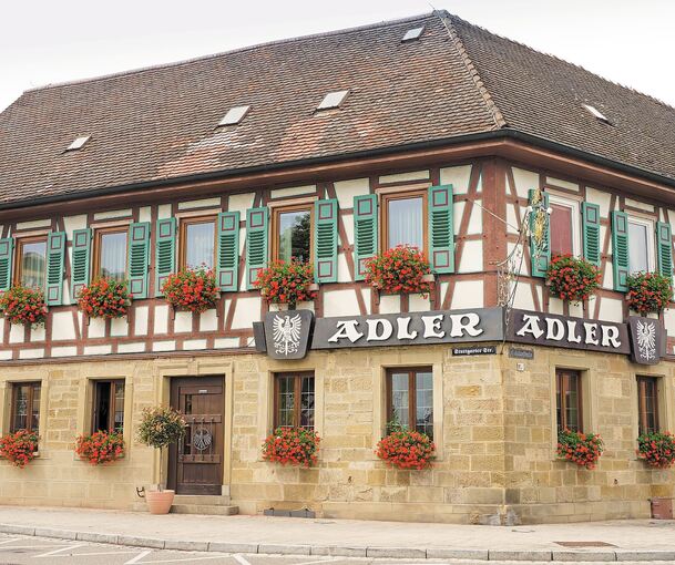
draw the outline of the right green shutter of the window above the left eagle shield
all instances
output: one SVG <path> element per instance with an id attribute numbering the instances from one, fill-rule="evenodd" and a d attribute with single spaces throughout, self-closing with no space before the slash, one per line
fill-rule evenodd
<path id="1" fill-rule="evenodd" d="M 335 198 L 314 203 L 314 280 L 337 282 L 337 220 Z"/>

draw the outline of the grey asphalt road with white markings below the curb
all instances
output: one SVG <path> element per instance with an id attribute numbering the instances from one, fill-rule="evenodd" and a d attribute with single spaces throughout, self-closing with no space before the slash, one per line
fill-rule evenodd
<path id="1" fill-rule="evenodd" d="M 175 563 L 185 565 L 543 565 L 538 562 L 484 562 L 442 559 L 374 559 L 367 557 L 317 557 L 288 555 L 229 555 L 222 553 L 145 549 L 120 545 L 70 542 L 45 537 L 0 534 L 0 564 L 3 565 L 144 565 Z M 552 565 L 552 562 L 545 562 Z M 663 564 L 664 562 L 651 562 Z M 623 562 L 632 565 L 632 562 Z M 636 564 L 635 564 L 636 565 Z M 640 565 L 648 565 L 641 562 Z"/>

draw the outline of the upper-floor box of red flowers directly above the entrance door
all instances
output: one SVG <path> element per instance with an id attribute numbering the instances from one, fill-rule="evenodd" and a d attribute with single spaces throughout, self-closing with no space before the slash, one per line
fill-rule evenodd
<path id="1" fill-rule="evenodd" d="M 176 310 L 202 314 L 216 307 L 221 291 L 211 269 L 181 269 L 170 275 L 162 292 Z"/>

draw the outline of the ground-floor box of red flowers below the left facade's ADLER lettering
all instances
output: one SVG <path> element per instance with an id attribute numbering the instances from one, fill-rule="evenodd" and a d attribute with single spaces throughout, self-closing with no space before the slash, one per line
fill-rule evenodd
<path id="1" fill-rule="evenodd" d="M 391 427 L 391 431 L 382 438 L 375 454 L 387 465 L 396 469 L 429 469 L 436 453 L 436 445 L 426 433 Z"/>

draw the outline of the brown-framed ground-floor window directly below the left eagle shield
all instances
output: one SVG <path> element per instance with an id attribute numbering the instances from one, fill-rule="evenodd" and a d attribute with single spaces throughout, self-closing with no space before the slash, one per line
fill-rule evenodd
<path id="1" fill-rule="evenodd" d="M 314 429 L 314 373 L 284 372 L 274 376 L 274 428 Z"/>

